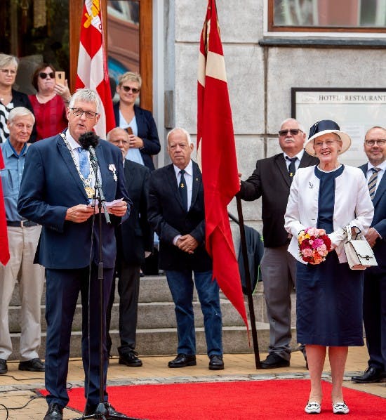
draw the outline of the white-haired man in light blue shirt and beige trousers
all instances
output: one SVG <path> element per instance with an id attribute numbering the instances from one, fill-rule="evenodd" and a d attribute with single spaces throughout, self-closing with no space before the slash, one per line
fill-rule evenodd
<path id="1" fill-rule="evenodd" d="M 9 136 L 0 148 L 5 169 L 0 171 L 4 189 L 4 204 L 8 242 L 11 258 L 0 264 L 0 374 L 8 371 L 7 359 L 12 353 L 11 334 L 8 327 L 8 308 L 13 289 L 19 282 L 21 299 L 20 370 L 44 372 L 39 359 L 41 343 L 40 304 L 44 284 L 44 268 L 34 264 L 41 226 L 18 214 L 17 204 L 35 117 L 25 107 L 15 107 L 8 115 Z"/>

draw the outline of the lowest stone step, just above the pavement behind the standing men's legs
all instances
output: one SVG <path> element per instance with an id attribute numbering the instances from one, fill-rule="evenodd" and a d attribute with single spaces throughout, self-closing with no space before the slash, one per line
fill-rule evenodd
<path id="1" fill-rule="evenodd" d="M 269 346 L 269 327 L 268 324 L 257 322 L 258 347 L 260 353 L 268 351 Z M 119 334 L 117 330 L 111 332 L 113 346 L 112 355 L 117 355 L 117 346 L 119 346 Z M 292 348 L 296 348 L 295 329 L 293 329 Z M 13 343 L 13 354 L 9 360 L 17 360 L 19 348 L 19 334 L 11 334 Z M 196 328 L 197 354 L 206 354 L 206 343 L 204 328 Z M 222 341 L 224 353 L 253 353 L 253 347 L 248 345 L 248 334 L 246 327 L 224 327 L 222 330 Z M 252 338 L 251 338 L 252 343 Z M 44 348 L 46 346 L 46 333 L 41 336 L 41 358 L 44 358 Z M 252 346 L 252 344 L 251 344 Z M 177 332 L 174 328 L 159 329 L 138 329 L 136 350 L 139 355 L 175 355 L 177 348 Z M 71 357 L 80 357 L 81 355 L 81 332 L 73 332 L 71 338 Z"/>

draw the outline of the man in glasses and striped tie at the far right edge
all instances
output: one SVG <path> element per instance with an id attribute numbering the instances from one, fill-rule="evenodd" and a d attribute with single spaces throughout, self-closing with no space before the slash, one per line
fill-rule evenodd
<path id="1" fill-rule="evenodd" d="M 386 129 L 369 129 L 364 140 L 368 163 L 360 166 L 367 179 L 373 200 L 374 217 L 366 233 L 373 247 L 378 267 L 364 271 L 364 329 L 368 368 L 353 376 L 357 383 L 373 383 L 386 379 Z"/>

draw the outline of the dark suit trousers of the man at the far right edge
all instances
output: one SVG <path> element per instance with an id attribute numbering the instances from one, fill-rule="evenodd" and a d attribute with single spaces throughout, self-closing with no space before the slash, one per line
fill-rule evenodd
<path id="1" fill-rule="evenodd" d="M 386 275 L 379 268 L 364 270 L 364 329 L 368 366 L 386 371 Z"/>

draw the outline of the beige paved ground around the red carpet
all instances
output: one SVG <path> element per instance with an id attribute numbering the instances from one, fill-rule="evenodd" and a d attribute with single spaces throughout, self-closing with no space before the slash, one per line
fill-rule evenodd
<path id="1" fill-rule="evenodd" d="M 260 355 L 265 359 L 265 354 Z M 108 385 L 140 383 L 175 383 L 192 381 L 249 381 L 262 379 L 307 378 L 305 362 L 300 352 L 293 353 L 291 367 L 282 369 L 255 369 L 255 358 L 251 354 L 225 355 L 225 370 L 213 372 L 208 370 L 208 357 L 199 355 L 197 366 L 184 369 L 169 369 L 171 356 L 141 357 L 142 367 L 124 367 L 113 358 L 108 372 Z M 345 386 L 379 395 L 386 398 L 386 383 L 354 384 L 350 381 L 352 374 L 366 369 L 368 355 L 365 347 L 350 348 L 345 372 Z M 68 381 L 72 386 L 83 386 L 83 368 L 81 360 L 73 359 L 69 363 Z M 324 377 L 330 379 L 328 362 L 324 367 Z M 42 420 L 47 405 L 44 398 L 36 397 L 35 389 L 44 388 L 44 375 L 33 372 L 20 372 L 18 362 L 8 362 L 8 374 L 0 375 L 0 405 L 8 408 L 8 420 Z M 33 400 L 32 400 L 33 399 Z M 16 409 L 27 406 L 23 409 Z M 0 407 L 2 409 L 4 407 Z M 79 417 L 79 412 L 65 409 L 64 419 Z M 6 419 L 6 410 L 0 411 L 0 420 Z"/>

